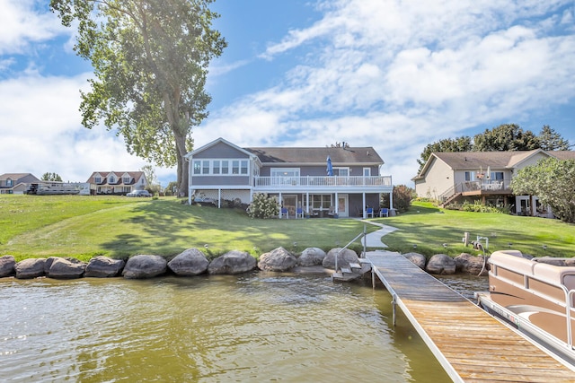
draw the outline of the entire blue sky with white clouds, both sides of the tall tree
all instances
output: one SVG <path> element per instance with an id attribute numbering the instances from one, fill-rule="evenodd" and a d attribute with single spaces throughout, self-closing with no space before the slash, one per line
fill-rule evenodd
<path id="1" fill-rule="evenodd" d="M 121 137 L 81 126 L 92 75 L 48 1 L 0 0 L 0 173 L 137 170 Z M 196 147 L 374 146 L 412 186 L 423 148 L 516 123 L 575 144 L 573 0 L 217 0 Z M 162 183 L 175 170 L 156 169 Z"/>

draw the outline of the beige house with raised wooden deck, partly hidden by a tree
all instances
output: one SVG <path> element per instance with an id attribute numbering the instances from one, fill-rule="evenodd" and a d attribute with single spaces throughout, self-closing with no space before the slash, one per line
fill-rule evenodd
<path id="1" fill-rule="evenodd" d="M 515 196 L 509 184 L 518 170 L 544 158 L 575 160 L 575 152 L 433 152 L 412 178 L 420 197 L 443 205 L 480 201 L 483 205 L 511 205 L 513 213 L 553 217 L 537 196 Z"/>

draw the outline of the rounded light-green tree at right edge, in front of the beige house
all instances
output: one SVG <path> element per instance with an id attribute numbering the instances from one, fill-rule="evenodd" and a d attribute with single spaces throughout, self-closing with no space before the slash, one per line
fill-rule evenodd
<path id="1" fill-rule="evenodd" d="M 517 171 L 510 187 L 517 196 L 537 196 L 560 220 L 575 222 L 575 160 L 550 157 L 538 161 Z"/>

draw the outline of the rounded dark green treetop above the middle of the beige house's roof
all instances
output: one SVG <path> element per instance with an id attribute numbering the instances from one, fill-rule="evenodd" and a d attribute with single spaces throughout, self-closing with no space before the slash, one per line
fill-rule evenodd
<path id="1" fill-rule="evenodd" d="M 473 137 L 475 152 L 530 151 L 540 147 L 539 139 L 530 130 L 517 124 L 502 124 Z"/>

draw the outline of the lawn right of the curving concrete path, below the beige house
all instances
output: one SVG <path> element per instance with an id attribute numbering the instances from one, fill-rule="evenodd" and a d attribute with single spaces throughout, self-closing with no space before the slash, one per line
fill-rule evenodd
<path id="1" fill-rule="evenodd" d="M 473 248 L 464 247 L 464 232 L 469 232 L 470 240 L 478 236 L 489 239 L 488 253 L 513 248 L 534 257 L 575 256 L 575 225 L 558 220 L 459 212 L 414 202 L 408 213 L 376 221 L 399 229 L 383 240 L 390 249 L 402 253 L 443 253 L 453 257 L 462 252 L 478 254 Z M 482 239 L 482 243 L 486 240 Z"/>

